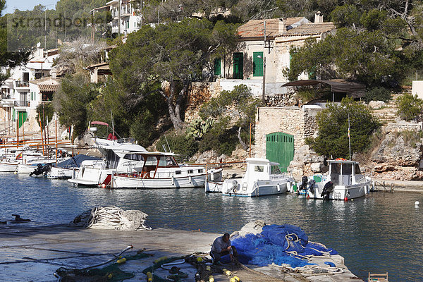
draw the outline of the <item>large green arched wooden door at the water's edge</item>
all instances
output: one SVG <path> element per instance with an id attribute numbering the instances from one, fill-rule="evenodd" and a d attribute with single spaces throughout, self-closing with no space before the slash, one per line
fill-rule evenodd
<path id="1" fill-rule="evenodd" d="M 281 171 L 286 171 L 294 159 L 294 136 L 287 133 L 266 135 L 266 159 L 279 163 Z"/>

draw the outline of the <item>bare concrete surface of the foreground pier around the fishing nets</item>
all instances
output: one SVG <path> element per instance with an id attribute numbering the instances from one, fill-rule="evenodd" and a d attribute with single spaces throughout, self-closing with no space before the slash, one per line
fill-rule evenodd
<path id="1" fill-rule="evenodd" d="M 142 270 L 151 266 L 154 259 L 209 252 L 213 240 L 221 235 L 162 228 L 152 231 L 110 231 L 62 225 L 39 227 L 33 224 L 0 225 L 0 281 L 57 281 L 54 272 L 59 267 L 82 269 L 106 262 L 128 245 L 133 245 L 134 248 L 124 255 L 145 248 L 145 253 L 153 256 L 122 264 L 120 268 L 123 271 L 135 274 L 134 278 L 125 281 L 146 281 Z M 248 267 L 267 274 L 266 277 L 274 277 L 274 281 L 362 281 L 347 269 L 343 257 L 339 255 L 316 257 L 312 260 L 320 266 L 327 266 L 324 264 L 327 261 L 336 264 L 342 273 L 305 274 L 290 273 L 277 266 Z M 195 281 L 196 269 L 190 265 L 178 267 L 189 274 L 184 281 Z M 236 271 L 234 273 L 238 275 Z M 242 281 L 250 281 L 241 274 L 239 276 Z M 216 282 L 229 281 L 228 276 L 223 274 L 214 275 L 214 279 Z"/>

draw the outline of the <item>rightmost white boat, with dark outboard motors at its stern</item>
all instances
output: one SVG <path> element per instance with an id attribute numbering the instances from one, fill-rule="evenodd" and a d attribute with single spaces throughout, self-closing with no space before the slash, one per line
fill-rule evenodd
<path id="1" fill-rule="evenodd" d="M 322 176 L 321 181 L 313 177 L 308 183 L 299 185 L 298 194 L 312 199 L 350 200 L 364 197 L 372 188 L 372 178 L 364 176 L 357 161 L 336 159 L 328 161 L 329 173 Z"/>

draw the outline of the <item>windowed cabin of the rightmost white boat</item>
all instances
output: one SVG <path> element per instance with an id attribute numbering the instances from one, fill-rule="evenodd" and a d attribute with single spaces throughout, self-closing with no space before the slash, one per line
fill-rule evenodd
<path id="1" fill-rule="evenodd" d="M 357 183 L 357 177 L 361 178 L 362 173 L 357 161 L 333 160 L 329 163 L 329 177 L 333 185 L 353 185 Z"/>

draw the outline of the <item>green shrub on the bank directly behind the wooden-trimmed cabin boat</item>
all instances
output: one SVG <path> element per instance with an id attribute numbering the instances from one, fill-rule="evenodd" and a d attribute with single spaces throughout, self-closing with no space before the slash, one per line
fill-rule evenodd
<path id="1" fill-rule="evenodd" d="M 180 154 L 182 157 L 192 157 L 198 151 L 198 143 L 192 138 L 185 138 L 185 135 L 163 135 L 157 142 L 156 149 L 163 152 L 163 147 L 168 149 L 168 146 L 171 147 L 173 153 Z"/>

